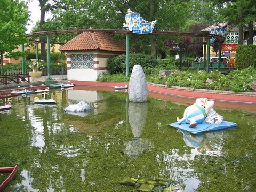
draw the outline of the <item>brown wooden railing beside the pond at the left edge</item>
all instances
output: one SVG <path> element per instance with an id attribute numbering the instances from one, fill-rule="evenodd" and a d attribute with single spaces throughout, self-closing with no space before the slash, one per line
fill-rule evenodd
<path id="1" fill-rule="evenodd" d="M 27 78 L 27 79 L 26 79 Z M 29 73 L 14 74 L 14 75 L 0 75 L 0 85 L 7 85 L 11 83 L 30 82 Z"/>

